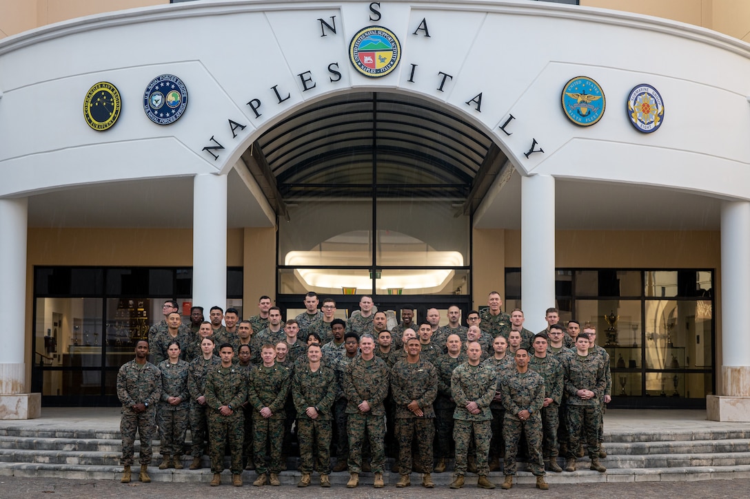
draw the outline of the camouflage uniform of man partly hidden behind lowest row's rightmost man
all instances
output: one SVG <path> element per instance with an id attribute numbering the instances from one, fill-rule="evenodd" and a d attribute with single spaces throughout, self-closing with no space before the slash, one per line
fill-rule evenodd
<path id="1" fill-rule="evenodd" d="M 547 354 L 529 358 L 529 369 L 538 373 L 544 380 L 544 399 L 552 399 L 547 407 L 541 408 L 541 428 L 544 432 L 542 456 L 551 461 L 558 456 L 557 429 L 559 427 L 559 405 L 562 401 L 562 365 L 555 357 Z"/>

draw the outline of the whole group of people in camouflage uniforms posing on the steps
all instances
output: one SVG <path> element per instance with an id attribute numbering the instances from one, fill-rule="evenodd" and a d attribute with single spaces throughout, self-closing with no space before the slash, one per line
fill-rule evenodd
<path id="1" fill-rule="evenodd" d="M 404 306 L 401 323 L 389 330 L 371 297 L 362 297 L 347 321 L 335 318 L 332 298 L 319 304 L 308 293 L 305 312 L 284 324 L 267 296 L 246 321 L 218 306 L 203 321 L 203 309 L 193 307 L 187 327 L 167 300 L 165 320 L 151 327 L 148 341 L 137 342 L 135 359 L 118 372 L 121 481 L 130 482 L 136 431 L 139 480 L 150 481 L 157 426 L 160 469 L 183 468 L 188 428 L 190 469 L 202 468 L 208 441 L 211 486 L 221 483 L 227 449 L 234 486 L 252 469 L 254 486 L 281 485 L 293 434 L 300 487 L 311 484 L 313 471 L 329 487 L 332 471 L 347 470 L 349 488 L 358 486 L 362 471 L 374 472 L 374 486 L 383 487 L 386 446 L 397 458 L 397 487 L 409 486 L 413 471 L 422 473 L 422 486 L 434 487 L 431 474 L 446 471 L 455 455 L 452 489 L 463 487 L 467 471 L 478 475 L 478 487 L 494 489 L 487 474 L 499 470 L 501 459 L 501 487 L 510 489 L 521 453 L 536 486 L 546 490 L 545 471 L 562 472 L 559 456 L 565 471 L 575 471 L 582 440 L 590 469 L 606 471 L 599 459 L 606 456 L 602 413 L 611 376 L 592 324 L 581 331 L 571 320 L 563 327 L 559 312 L 547 309 L 547 328 L 532 333 L 520 309 L 502 312 L 495 291 L 487 309 L 469 312 L 468 327 L 460 324 L 458 306 L 449 307 L 443 327 L 437 309 L 418 324 L 413 307 Z"/>

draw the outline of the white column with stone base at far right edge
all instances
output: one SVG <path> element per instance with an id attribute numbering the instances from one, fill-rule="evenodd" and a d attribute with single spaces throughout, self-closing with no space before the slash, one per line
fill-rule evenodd
<path id="1" fill-rule="evenodd" d="M 721 396 L 708 396 L 709 420 L 750 421 L 750 202 L 721 205 Z"/>

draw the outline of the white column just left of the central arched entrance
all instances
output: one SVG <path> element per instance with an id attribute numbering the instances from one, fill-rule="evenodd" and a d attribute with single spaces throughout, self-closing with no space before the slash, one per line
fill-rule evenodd
<path id="1" fill-rule="evenodd" d="M 193 306 L 226 309 L 226 175 L 193 182 Z"/>

